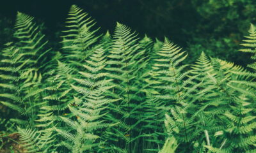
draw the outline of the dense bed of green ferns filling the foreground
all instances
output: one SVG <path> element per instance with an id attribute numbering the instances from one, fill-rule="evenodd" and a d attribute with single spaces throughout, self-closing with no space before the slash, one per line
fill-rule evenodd
<path id="1" fill-rule="evenodd" d="M 202 52 L 186 64 L 168 38 L 141 39 L 118 22 L 99 34 L 76 5 L 65 24 L 56 52 L 34 18 L 17 13 L 0 54 L 0 149 L 256 152 L 255 62 L 243 68 Z M 255 44 L 251 25 L 240 51 L 252 61 Z"/>

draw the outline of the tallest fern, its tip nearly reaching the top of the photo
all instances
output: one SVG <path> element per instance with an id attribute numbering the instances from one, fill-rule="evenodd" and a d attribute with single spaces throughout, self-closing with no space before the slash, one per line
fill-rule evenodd
<path id="1" fill-rule="evenodd" d="M 76 5 L 72 5 L 66 21 L 67 30 L 63 31 L 62 50 L 65 55 L 65 62 L 70 66 L 81 66 L 79 62 L 83 61 L 92 54 L 92 44 L 95 43 L 99 36 L 95 36 L 98 29 L 93 29 L 95 22 L 88 17 L 87 13 Z"/>

